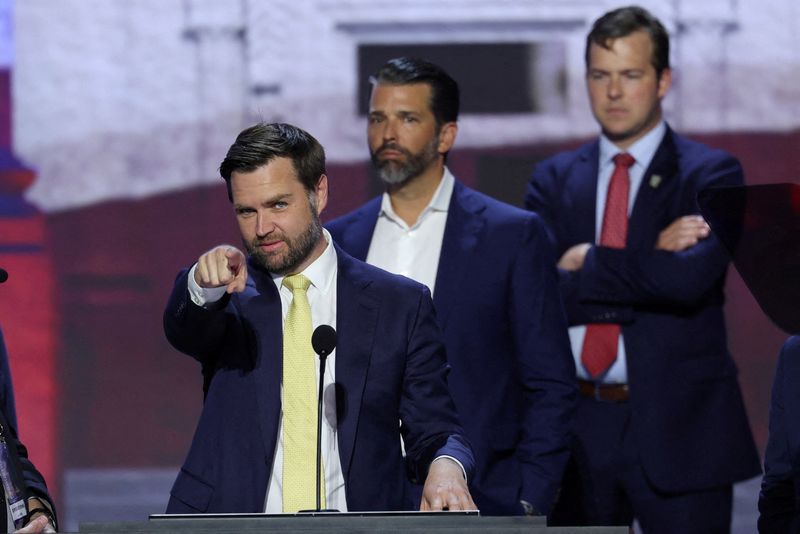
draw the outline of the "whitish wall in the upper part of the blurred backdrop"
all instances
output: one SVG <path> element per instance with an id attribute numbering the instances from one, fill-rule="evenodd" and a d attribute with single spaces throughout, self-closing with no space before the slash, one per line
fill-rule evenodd
<path id="1" fill-rule="evenodd" d="M 8 1 L 8 0 L 6 0 Z M 688 132 L 800 125 L 796 0 L 646 1 L 673 35 L 668 118 Z M 591 135 L 583 47 L 598 0 L 24 0 L 14 137 L 46 211 L 218 180 L 236 133 L 298 124 L 330 161 L 367 156 L 359 43 L 560 40 L 560 113 L 464 116 L 458 146 Z M 567 24 L 565 24 L 567 23 Z M 492 80 L 502 84 L 502 80 Z M 254 93 L 253 88 L 259 90 Z"/>

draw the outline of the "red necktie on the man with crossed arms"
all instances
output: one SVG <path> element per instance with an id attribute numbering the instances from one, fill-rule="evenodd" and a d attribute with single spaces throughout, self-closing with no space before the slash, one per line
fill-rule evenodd
<path id="1" fill-rule="evenodd" d="M 601 246 L 625 248 L 625 239 L 628 236 L 628 190 L 630 189 L 628 167 L 635 161 L 633 156 L 624 152 L 614 156 L 614 173 L 608 184 L 603 229 L 600 232 Z M 619 332 L 618 324 L 596 323 L 586 326 L 581 363 L 593 379 L 606 372 L 617 359 Z"/>

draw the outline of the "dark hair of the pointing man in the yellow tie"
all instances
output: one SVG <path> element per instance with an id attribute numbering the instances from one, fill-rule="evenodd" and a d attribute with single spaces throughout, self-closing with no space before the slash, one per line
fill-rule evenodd
<path id="1" fill-rule="evenodd" d="M 310 133 L 291 124 L 260 122 L 236 136 L 219 166 L 228 199 L 233 201 L 231 174 L 253 172 L 275 158 L 292 160 L 297 178 L 308 192 L 316 190 L 319 177 L 325 174 L 325 149 Z"/>

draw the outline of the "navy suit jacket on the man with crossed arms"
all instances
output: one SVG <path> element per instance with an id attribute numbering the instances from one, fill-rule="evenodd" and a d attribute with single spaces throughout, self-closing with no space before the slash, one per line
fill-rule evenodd
<path id="1" fill-rule="evenodd" d="M 598 160 L 595 141 L 533 174 L 526 207 L 547 223 L 559 257 L 595 241 Z M 729 154 L 668 128 L 636 196 L 626 248 L 594 246 L 583 268 L 559 270 L 570 325 L 622 325 L 631 428 L 648 479 L 667 492 L 728 485 L 760 471 L 726 342 L 727 255 L 713 235 L 683 252 L 655 250 L 663 229 L 699 213 L 699 191 L 742 182 Z"/>

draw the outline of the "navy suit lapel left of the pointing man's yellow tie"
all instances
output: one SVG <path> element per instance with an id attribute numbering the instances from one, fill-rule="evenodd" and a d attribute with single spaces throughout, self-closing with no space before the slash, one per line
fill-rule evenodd
<path id="1" fill-rule="evenodd" d="M 278 288 L 269 274 L 250 267 L 248 285 L 256 296 L 242 298 L 243 316 L 254 318 L 249 326 L 255 332 L 257 360 L 253 370 L 261 437 L 271 461 L 275 453 L 281 414 L 281 378 L 283 374 L 283 318 Z"/>

